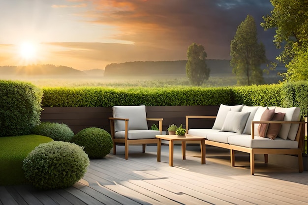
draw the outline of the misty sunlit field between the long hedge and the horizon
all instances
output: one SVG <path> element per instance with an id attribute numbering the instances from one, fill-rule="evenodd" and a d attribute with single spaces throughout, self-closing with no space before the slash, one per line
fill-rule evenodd
<path id="1" fill-rule="evenodd" d="M 135 77 L 84 77 L 84 78 L 1 78 L 6 80 L 20 80 L 31 82 L 38 87 L 109 87 L 109 88 L 125 88 L 125 87 L 175 87 L 175 86 L 191 86 L 184 74 L 176 75 L 147 75 Z M 276 74 L 264 74 L 267 84 L 277 83 L 282 80 Z M 236 86 L 236 76 L 232 73 L 212 74 L 209 80 L 205 81 L 202 87 L 227 87 Z"/>

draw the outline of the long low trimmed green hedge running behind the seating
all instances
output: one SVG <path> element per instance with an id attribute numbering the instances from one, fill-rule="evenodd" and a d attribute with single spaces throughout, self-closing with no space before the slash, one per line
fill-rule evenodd
<path id="1" fill-rule="evenodd" d="M 308 82 L 224 88 L 43 88 L 43 107 L 235 105 L 300 107 L 308 114 Z"/>

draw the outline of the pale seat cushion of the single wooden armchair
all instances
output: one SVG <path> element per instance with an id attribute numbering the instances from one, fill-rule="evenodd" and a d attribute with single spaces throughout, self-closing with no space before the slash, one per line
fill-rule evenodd
<path id="1" fill-rule="evenodd" d="M 160 135 L 159 130 L 128 130 L 128 139 L 152 139 L 156 135 Z M 125 138 L 125 131 L 119 131 L 115 133 L 115 138 L 121 139 Z"/>

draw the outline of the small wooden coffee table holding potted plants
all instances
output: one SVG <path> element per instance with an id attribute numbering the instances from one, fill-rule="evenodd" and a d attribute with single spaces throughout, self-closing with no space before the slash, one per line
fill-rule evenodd
<path id="1" fill-rule="evenodd" d="M 201 164 L 205 164 L 205 138 L 196 137 L 191 135 L 185 135 L 185 137 L 177 137 L 176 135 L 156 135 L 158 138 L 157 144 L 157 162 L 160 162 L 160 152 L 161 152 L 161 140 L 169 141 L 169 166 L 173 166 L 173 142 L 182 142 L 182 158 L 186 159 L 186 142 L 187 141 L 200 141 L 201 143 Z"/>

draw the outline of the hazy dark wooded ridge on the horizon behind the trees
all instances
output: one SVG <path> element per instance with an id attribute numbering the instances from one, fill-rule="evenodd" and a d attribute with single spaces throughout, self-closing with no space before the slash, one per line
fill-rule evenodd
<path id="1" fill-rule="evenodd" d="M 105 67 L 105 76 L 138 76 L 154 74 L 185 74 L 187 60 L 176 61 L 134 61 L 111 63 Z M 211 74 L 232 73 L 230 60 L 207 59 Z"/>

